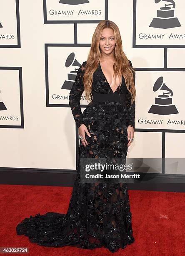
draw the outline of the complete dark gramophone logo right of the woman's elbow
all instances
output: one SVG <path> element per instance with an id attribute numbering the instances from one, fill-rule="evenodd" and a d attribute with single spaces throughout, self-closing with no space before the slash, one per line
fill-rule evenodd
<path id="1" fill-rule="evenodd" d="M 158 95 L 155 98 L 155 105 L 152 105 L 148 113 L 158 114 L 158 115 L 171 115 L 178 114 L 178 110 L 175 105 L 172 105 L 172 96 L 173 92 L 163 83 L 163 77 L 159 77 L 154 86 L 153 91 L 156 92 L 158 90 L 165 90 L 167 92 L 163 92 L 162 95 Z M 170 94 L 170 95 L 168 95 Z"/>

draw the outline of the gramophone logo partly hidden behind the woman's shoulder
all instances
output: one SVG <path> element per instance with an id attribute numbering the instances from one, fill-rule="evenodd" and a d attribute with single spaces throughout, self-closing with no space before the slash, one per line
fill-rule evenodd
<path id="1" fill-rule="evenodd" d="M 80 67 L 81 64 L 75 59 L 75 54 L 72 52 L 66 59 L 65 61 L 65 67 L 70 67 L 70 66 L 75 66 L 75 67 Z M 75 78 L 77 75 L 77 71 L 79 68 L 75 68 L 75 70 L 72 70 L 70 73 L 67 74 L 67 80 L 64 81 L 62 84 L 61 89 L 67 89 L 71 90 L 72 84 L 75 82 Z"/>

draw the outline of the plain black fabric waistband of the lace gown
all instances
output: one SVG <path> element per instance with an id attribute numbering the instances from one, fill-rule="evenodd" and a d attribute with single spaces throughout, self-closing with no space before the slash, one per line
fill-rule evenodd
<path id="1" fill-rule="evenodd" d="M 92 91 L 92 102 L 94 101 L 116 101 L 116 102 L 124 102 L 125 101 L 125 94 L 120 94 L 119 93 L 97 93 Z"/>

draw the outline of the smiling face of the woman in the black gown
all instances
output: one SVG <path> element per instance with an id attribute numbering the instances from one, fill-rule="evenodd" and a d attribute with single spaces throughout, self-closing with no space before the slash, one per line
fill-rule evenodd
<path id="1" fill-rule="evenodd" d="M 100 37 L 100 49 L 104 54 L 111 54 L 115 49 L 115 37 L 112 28 L 104 28 Z"/>

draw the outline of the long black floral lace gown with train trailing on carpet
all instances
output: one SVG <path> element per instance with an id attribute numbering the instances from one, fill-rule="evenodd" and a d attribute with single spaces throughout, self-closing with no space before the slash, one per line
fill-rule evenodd
<path id="1" fill-rule="evenodd" d="M 84 91 L 85 64 L 86 61 L 77 71 L 69 104 L 77 127 L 85 124 L 91 137 L 85 133 L 86 147 L 80 141 L 77 175 L 67 214 L 30 215 L 17 225 L 16 231 L 17 235 L 24 234 L 30 242 L 41 246 L 105 247 L 113 253 L 135 241 L 127 184 L 80 183 L 80 158 L 126 158 L 127 127 L 135 125 L 135 102 L 130 104 L 131 95 L 123 76 L 120 91 L 117 88 L 113 93 L 99 63 L 92 83 L 95 100 L 82 113 L 80 98 Z M 124 100 L 117 100 L 119 93 Z"/>

